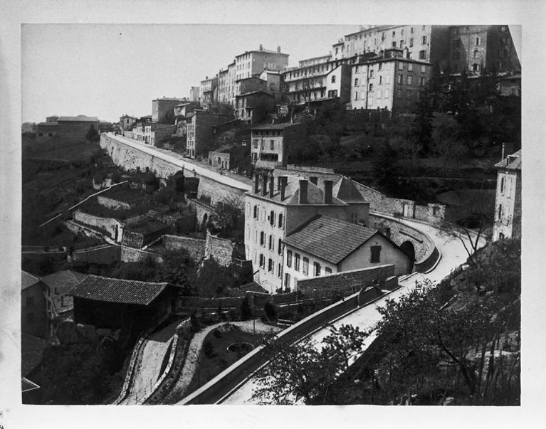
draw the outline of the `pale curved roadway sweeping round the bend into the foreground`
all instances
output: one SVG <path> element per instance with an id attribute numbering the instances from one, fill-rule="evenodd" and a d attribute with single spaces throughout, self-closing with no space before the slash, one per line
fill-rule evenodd
<path id="1" fill-rule="evenodd" d="M 373 327 L 374 324 L 381 318 L 381 315 L 377 311 L 377 307 L 383 306 L 385 302 L 387 302 L 387 299 L 396 300 L 397 298 L 406 295 L 408 292 L 414 289 L 416 281 L 421 281 L 428 278 L 433 283 L 439 282 L 454 268 L 458 267 L 458 265 L 466 262 L 468 254 L 466 253 L 461 240 L 459 240 L 456 236 L 447 234 L 434 226 L 424 223 L 405 219 L 401 219 L 399 221 L 423 231 L 424 233 L 428 234 L 432 240 L 434 240 L 436 247 L 441 252 L 441 259 L 439 260 L 439 263 L 437 263 L 436 266 L 427 273 L 414 272 L 413 274 L 404 277 L 403 280 L 399 281 L 399 289 L 391 292 L 389 295 L 386 295 L 372 305 L 357 309 L 355 312 L 350 313 L 346 317 L 338 319 L 332 324 L 333 326 L 340 327 L 342 324 L 352 324 L 363 330 L 369 329 Z M 466 241 L 468 242 L 468 240 Z M 485 245 L 485 240 L 480 240 L 480 245 Z M 329 326 L 330 325 L 326 325 L 322 329 L 311 334 L 310 337 L 316 341 L 317 346 L 320 346 L 320 341 L 330 334 Z M 373 340 L 374 335 L 372 334 L 366 339 L 364 349 L 366 349 Z M 255 387 L 256 382 L 253 380 L 253 378 L 249 378 L 245 383 L 239 385 L 238 388 L 224 396 L 224 398 L 222 398 L 218 403 L 232 405 L 256 405 L 258 402 L 252 400 L 252 393 Z"/>

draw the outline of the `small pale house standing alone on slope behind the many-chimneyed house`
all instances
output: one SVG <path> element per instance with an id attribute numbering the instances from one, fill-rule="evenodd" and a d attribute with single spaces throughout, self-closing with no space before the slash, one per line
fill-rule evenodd
<path id="1" fill-rule="evenodd" d="M 290 151 L 305 139 L 304 124 L 265 124 L 251 129 L 251 160 L 259 169 L 290 161 Z"/>

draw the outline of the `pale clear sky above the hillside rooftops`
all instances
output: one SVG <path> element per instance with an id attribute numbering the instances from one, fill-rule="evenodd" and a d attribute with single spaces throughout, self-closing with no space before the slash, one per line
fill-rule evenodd
<path id="1" fill-rule="evenodd" d="M 215 24 L 23 24 L 22 122 L 88 115 L 114 122 L 152 114 L 152 100 L 189 97 L 191 86 L 235 55 L 263 48 L 289 65 L 326 55 L 359 26 Z"/>

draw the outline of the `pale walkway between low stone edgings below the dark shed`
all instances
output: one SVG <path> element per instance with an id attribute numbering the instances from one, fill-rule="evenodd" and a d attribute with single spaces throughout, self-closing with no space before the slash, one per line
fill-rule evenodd
<path id="1" fill-rule="evenodd" d="M 142 345 L 141 355 L 135 367 L 135 375 L 127 396 L 120 405 L 135 405 L 144 401 L 152 393 L 155 382 L 161 376 L 161 365 L 169 344 L 172 342 L 178 322 L 169 324 L 161 331 L 150 335 Z"/>

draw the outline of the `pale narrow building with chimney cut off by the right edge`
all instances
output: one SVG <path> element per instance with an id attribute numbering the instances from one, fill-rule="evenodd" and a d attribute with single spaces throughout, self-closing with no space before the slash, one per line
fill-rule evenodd
<path id="1" fill-rule="evenodd" d="M 493 241 L 521 238 L 521 150 L 495 164 L 497 192 Z"/>

